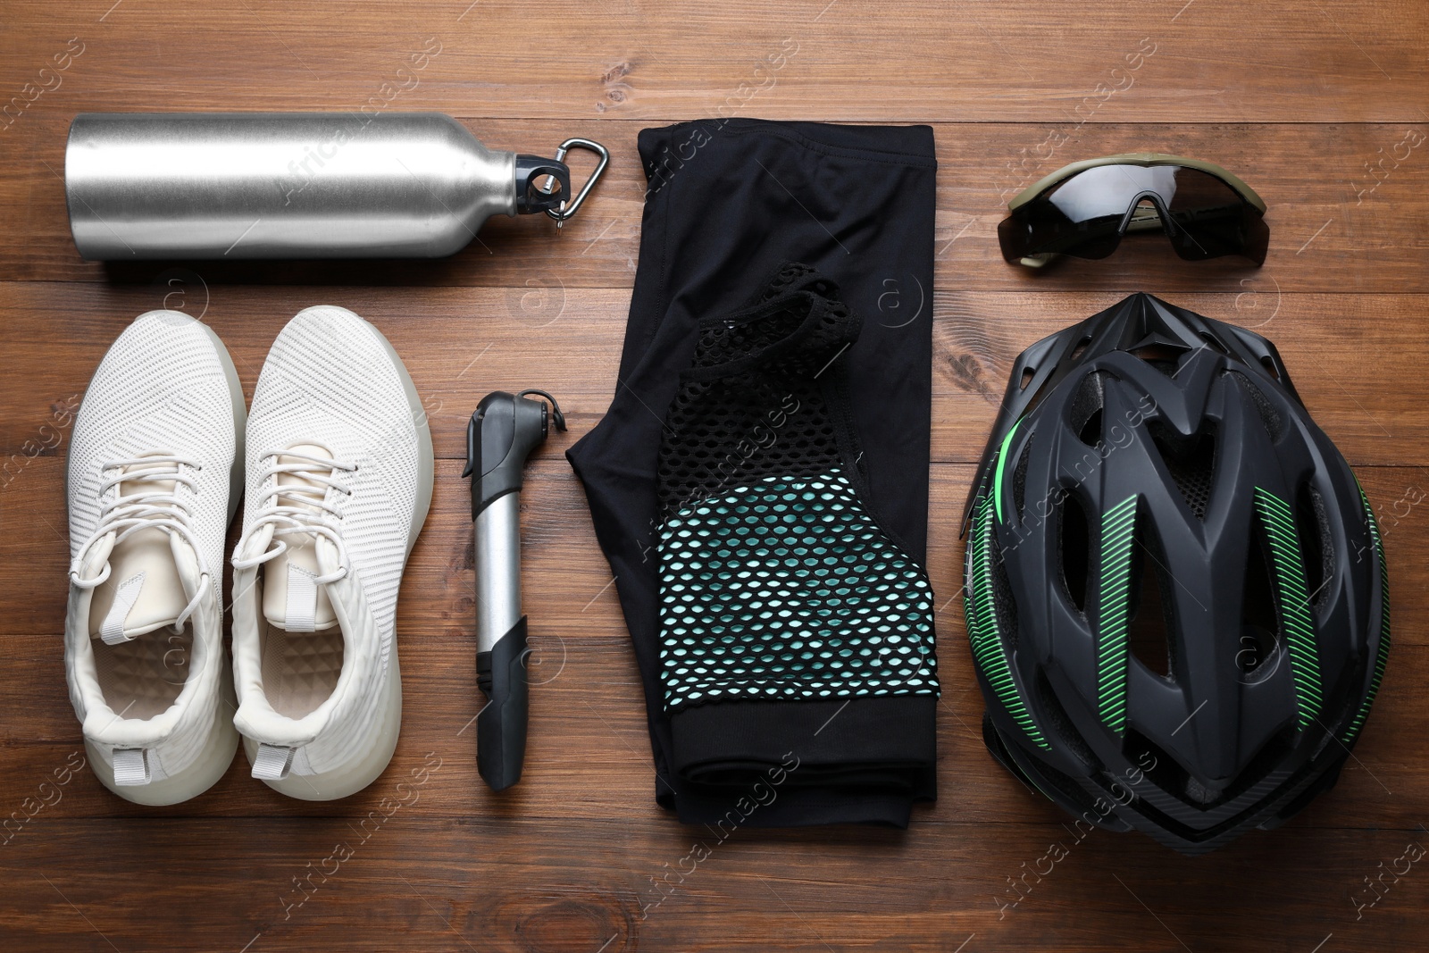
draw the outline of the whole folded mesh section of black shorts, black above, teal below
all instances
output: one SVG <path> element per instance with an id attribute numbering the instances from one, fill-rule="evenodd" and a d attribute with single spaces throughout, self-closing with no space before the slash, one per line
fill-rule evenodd
<path id="1" fill-rule="evenodd" d="M 860 499 L 836 423 L 860 330 L 836 293 L 786 264 L 700 327 L 660 441 L 669 710 L 937 692 L 927 576 Z"/>

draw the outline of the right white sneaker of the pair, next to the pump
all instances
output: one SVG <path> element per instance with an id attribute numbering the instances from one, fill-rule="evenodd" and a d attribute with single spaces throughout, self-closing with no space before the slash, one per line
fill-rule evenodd
<path id="1" fill-rule="evenodd" d="M 253 391 L 233 553 L 234 723 L 269 787 L 346 797 L 392 760 L 397 589 L 430 504 L 432 434 L 392 344 L 300 311 Z"/>

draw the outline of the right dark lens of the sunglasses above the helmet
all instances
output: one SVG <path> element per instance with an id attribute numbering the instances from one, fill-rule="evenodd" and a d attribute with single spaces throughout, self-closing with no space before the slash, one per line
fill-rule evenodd
<path id="1" fill-rule="evenodd" d="M 1265 261 L 1270 230 L 1260 211 L 1229 184 L 1199 169 L 1176 169 L 1175 191 L 1166 203 L 1176 254 L 1199 261 L 1243 254 Z"/>

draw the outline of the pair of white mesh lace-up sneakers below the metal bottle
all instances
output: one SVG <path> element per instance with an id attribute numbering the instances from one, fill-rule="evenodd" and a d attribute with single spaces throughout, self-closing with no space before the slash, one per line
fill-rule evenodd
<path id="1" fill-rule="evenodd" d="M 247 413 L 206 324 L 137 317 L 84 393 L 66 487 L 64 662 L 99 779 L 140 804 L 187 800 L 242 734 L 253 776 L 292 797 L 376 780 L 402 723 L 397 589 L 432 467 L 412 377 L 352 311 L 289 321 Z"/>

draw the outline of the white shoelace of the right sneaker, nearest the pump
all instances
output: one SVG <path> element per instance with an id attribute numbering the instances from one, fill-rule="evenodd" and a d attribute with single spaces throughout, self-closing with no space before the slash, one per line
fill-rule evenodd
<path id="1" fill-rule="evenodd" d="M 279 457 L 287 457 L 289 460 L 296 460 L 296 463 L 279 463 Z M 260 460 L 269 461 L 263 470 L 263 482 L 266 483 L 272 479 L 273 486 L 259 500 L 262 516 L 253 520 L 253 526 L 239 540 L 239 546 L 233 553 L 233 567 L 252 569 L 277 559 L 287 552 L 287 542 L 280 540 L 280 536 L 307 534 L 314 540 L 322 536 L 337 549 L 337 569 L 324 576 L 314 576 L 313 582 L 336 583 L 347 574 L 347 547 L 343 544 L 342 533 L 337 532 L 337 510 L 326 497 L 329 489 L 346 496 L 352 496 L 353 492 L 352 487 L 334 480 L 329 474 L 333 470 L 353 473 L 357 470 L 357 464 L 313 453 L 297 453 L 294 450 L 269 450 Z M 306 483 L 279 483 L 277 477 L 280 474 L 296 476 Z M 257 556 L 242 557 L 240 553 L 247 549 L 249 539 L 264 526 L 276 527 L 273 530 L 274 546 Z"/>

